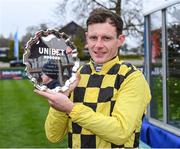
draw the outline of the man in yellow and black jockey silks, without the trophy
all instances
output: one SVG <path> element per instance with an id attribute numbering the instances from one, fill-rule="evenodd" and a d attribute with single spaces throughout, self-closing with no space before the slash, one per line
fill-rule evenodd
<path id="1" fill-rule="evenodd" d="M 139 146 L 142 117 L 151 95 L 143 74 L 117 56 L 125 39 L 122 29 L 117 15 L 94 10 L 86 32 L 91 60 L 79 70 L 70 99 L 70 91 L 36 90 L 51 105 L 45 123 L 50 141 L 60 141 L 68 133 L 70 148 Z"/>

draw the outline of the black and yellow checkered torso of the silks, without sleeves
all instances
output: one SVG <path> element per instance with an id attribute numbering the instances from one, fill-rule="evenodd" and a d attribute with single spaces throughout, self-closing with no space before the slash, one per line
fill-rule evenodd
<path id="1" fill-rule="evenodd" d="M 116 63 L 111 67 L 106 75 L 92 73 L 90 64 L 83 66 L 80 70 L 81 81 L 75 88 L 72 100 L 74 103 L 83 103 L 92 108 L 95 112 L 100 112 L 106 116 L 111 116 L 116 99 L 113 98 L 123 81 L 135 71 L 134 67 L 126 63 Z M 139 136 L 134 133 L 134 146 L 138 147 Z M 102 144 L 104 140 L 82 128 L 76 123 L 69 121 L 68 133 L 69 147 L 96 148 L 96 144 Z M 105 141 L 104 141 L 105 142 Z M 106 147 L 107 147 L 107 143 Z M 108 143 L 109 148 L 126 147 Z M 133 143 L 132 143 L 133 144 Z"/>

